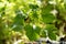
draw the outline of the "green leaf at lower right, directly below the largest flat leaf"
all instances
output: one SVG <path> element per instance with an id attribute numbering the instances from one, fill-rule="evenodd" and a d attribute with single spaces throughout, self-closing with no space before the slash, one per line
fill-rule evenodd
<path id="1" fill-rule="evenodd" d="M 54 24 L 47 24 L 45 30 L 47 30 L 47 34 L 51 40 L 56 40 L 56 33 L 58 32 L 58 30 Z"/>

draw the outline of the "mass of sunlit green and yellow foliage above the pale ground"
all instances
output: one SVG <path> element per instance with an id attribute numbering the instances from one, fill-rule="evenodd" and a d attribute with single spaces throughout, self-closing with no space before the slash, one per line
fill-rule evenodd
<path id="1" fill-rule="evenodd" d="M 66 24 L 65 11 L 62 0 L 0 0 L 0 40 L 10 38 L 12 31 L 25 31 L 30 41 L 36 41 L 47 37 L 45 30 L 56 40 L 56 33 L 64 30 L 58 28 Z"/>

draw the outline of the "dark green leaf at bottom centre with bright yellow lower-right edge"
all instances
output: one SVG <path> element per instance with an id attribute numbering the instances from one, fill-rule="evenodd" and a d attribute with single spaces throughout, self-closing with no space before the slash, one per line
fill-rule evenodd
<path id="1" fill-rule="evenodd" d="M 30 41 L 36 41 L 40 38 L 40 35 L 36 32 L 34 32 L 31 25 L 26 25 L 25 31 L 26 31 L 26 36 L 30 38 Z"/>

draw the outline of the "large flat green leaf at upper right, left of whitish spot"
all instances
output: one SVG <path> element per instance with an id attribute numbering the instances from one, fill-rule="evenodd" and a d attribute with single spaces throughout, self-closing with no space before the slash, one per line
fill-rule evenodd
<path id="1" fill-rule="evenodd" d="M 53 6 L 48 4 L 45 8 L 42 8 L 42 21 L 44 23 L 53 23 L 55 20 L 55 16 L 51 13 L 53 10 Z"/>

